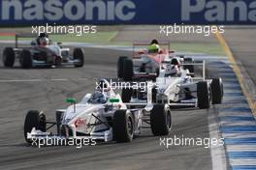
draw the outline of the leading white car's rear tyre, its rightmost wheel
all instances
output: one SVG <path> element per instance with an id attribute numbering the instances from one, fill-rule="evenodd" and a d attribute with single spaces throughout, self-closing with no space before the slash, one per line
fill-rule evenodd
<path id="1" fill-rule="evenodd" d="M 172 115 L 168 105 L 156 104 L 150 112 L 150 125 L 155 136 L 168 135 L 172 128 Z"/>

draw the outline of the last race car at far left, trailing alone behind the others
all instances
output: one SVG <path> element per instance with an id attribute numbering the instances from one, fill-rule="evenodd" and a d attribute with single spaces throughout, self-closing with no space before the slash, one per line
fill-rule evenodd
<path id="1" fill-rule="evenodd" d="M 48 35 L 43 33 L 28 47 L 18 46 L 19 38 L 35 38 L 35 35 L 16 34 L 16 47 L 6 47 L 3 51 L 3 65 L 7 68 L 13 68 L 16 59 L 23 69 L 65 65 L 76 68 L 83 66 L 84 54 L 81 48 L 75 48 L 70 55 L 70 48 L 62 47 L 61 42 L 53 43 L 48 40 Z"/>

